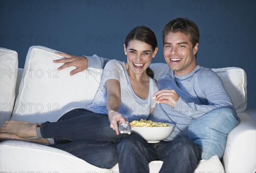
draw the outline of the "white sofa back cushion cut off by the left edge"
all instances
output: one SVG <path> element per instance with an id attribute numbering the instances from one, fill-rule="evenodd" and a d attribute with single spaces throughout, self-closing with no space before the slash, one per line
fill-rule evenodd
<path id="1" fill-rule="evenodd" d="M 17 81 L 18 54 L 14 50 L 0 48 L 0 127 L 12 115 Z"/>

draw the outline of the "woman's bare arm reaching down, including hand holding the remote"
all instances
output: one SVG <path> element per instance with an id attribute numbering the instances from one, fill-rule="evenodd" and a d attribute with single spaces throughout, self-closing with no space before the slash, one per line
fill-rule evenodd
<path id="1" fill-rule="evenodd" d="M 106 88 L 108 93 L 108 98 L 106 102 L 106 107 L 108 111 L 108 118 L 110 122 L 110 127 L 116 130 L 116 135 L 119 135 L 118 121 L 125 123 L 125 119 L 118 112 L 121 106 L 121 88 L 120 83 L 116 79 L 108 79 L 106 82 Z"/>

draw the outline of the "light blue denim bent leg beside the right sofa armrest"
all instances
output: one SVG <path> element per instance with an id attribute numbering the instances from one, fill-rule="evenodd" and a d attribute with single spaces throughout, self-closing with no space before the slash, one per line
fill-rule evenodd
<path id="1" fill-rule="evenodd" d="M 229 147 L 227 135 L 239 122 L 236 111 L 230 107 L 212 110 L 191 121 L 189 139 L 198 145 L 202 159 L 208 160 L 215 155 L 222 159 L 225 147 Z"/>

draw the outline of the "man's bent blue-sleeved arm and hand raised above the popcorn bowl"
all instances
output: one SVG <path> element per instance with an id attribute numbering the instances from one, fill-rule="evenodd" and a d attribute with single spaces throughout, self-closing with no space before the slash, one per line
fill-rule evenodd
<path id="1" fill-rule="evenodd" d="M 178 95 L 173 89 L 162 89 L 158 91 L 154 94 L 156 101 L 169 104 L 172 107 L 172 111 L 180 112 L 191 118 L 199 118 L 217 108 L 223 108 L 223 111 L 228 111 L 229 109 L 235 110 L 232 100 L 224 89 L 222 81 L 217 74 L 211 78 L 203 78 L 199 74 L 197 74 L 195 78 L 196 77 L 198 77 L 197 79 L 199 80 L 194 89 L 197 90 L 198 97 L 204 100 L 201 100 L 202 103 L 198 103 L 198 101 L 195 103 L 192 98 L 187 98 L 186 95 L 189 95 L 187 92 L 180 91 L 179 93 L 181 95 Z M 191 84 L 191 87 L 193 86 L 194 84 Z M 179 87 L 176 87 L 176 89 L 178 88 Z"/>

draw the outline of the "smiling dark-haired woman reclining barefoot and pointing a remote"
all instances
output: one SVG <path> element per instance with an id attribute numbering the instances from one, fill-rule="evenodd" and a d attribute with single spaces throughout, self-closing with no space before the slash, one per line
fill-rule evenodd
<path id="1" fill-rule="evenodd" d="M 111 60 L 106 64 L 93 104 L 86 110 L 72 110 L 52 123 L 6 121 L 0 138 L 40 143 L 54 138 L 52 147 L 98 167 L 113 167 L 118 162 L 116 142 L 124 136 L 119 134 L 117 122 L 125 123 L 124 117 L 129 121 L 147 119 L 154 110 L 152 95 L 158 89 L 148 66 L 157 50 L 154 32 L 145 26 L 132 29 L 124 44 L 127 62 Z"/>

